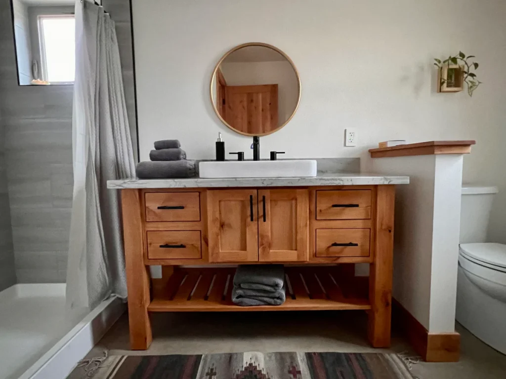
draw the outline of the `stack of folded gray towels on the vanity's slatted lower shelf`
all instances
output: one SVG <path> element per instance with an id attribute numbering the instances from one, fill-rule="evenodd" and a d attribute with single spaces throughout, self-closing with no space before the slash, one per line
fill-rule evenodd
<path id="1" fill-rule="evenodd" d="M 252 305 L 281 305 L 284 303 L 284 268 L 281 264 L 239 265 L 234 275 L 232 302 Z"/>

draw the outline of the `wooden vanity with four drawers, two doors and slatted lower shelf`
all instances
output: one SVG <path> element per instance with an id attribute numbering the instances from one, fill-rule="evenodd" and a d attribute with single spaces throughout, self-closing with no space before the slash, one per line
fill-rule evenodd
<path id="1" fill-rule="evenodd" d="M 151 343 L 150 312 L 180 311 L 363 309 L 371 345 L 390 345 L 395 185 L 148 181 L 109 182 L 122 188 L 132 349 Z M 232 303 L 233 265 L 248 263 L 285 264 L 283 305 Z M 350 263 L 370 265 L 368 285 Z M 162 265 L 161 279 L 150 278 L 150 265 Z"/>

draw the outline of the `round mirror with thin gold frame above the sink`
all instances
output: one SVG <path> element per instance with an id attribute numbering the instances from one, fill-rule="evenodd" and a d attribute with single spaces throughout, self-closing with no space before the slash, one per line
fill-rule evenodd
<path id="1" fill-rule="evenodd" d="M 218 62 L 211 79 L 211 102 L 232 130 L 267 135 L 293 117 L 301 80 L 293 62 L 278 48 L 251 42 L 236 46 Z"/>

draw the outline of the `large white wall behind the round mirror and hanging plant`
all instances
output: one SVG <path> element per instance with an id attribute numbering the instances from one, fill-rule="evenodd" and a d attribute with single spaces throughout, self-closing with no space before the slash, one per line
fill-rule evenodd
<path id="1" fill-rule="evenodd" d="M 263 158 L 271 150 L 367 158 L 385 139 L 476 139 L 464 179 L 500 186 L 491 238 L 506 242 L 506 149 L 498 138 L 506 134 L 505 14 L 502 0 L 133 0 L 140 158 L 161 138 L 179 138 L 191 158 L 213 158 L 218 131 L 227 151 L 250 157 L 250 138 L 215 115 L 209 80 L 234 45 L 267 42 L 297 66 L 302 98 L 286 127 L 261 138 Z M 480 63 L 484 84 L 473 98 L 436 93 L 433 57 L 459 50 Z M 350 126 L 356 148 L 343 147 Z"/>

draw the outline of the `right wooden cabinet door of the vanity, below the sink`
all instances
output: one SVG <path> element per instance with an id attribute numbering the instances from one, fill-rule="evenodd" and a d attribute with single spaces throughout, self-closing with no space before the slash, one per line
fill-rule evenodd
<path id="1" fill-rule="evenodd" d="M 309 192 L 269 189 L 258 192 L 259 260 L 308 260 Z"/>

